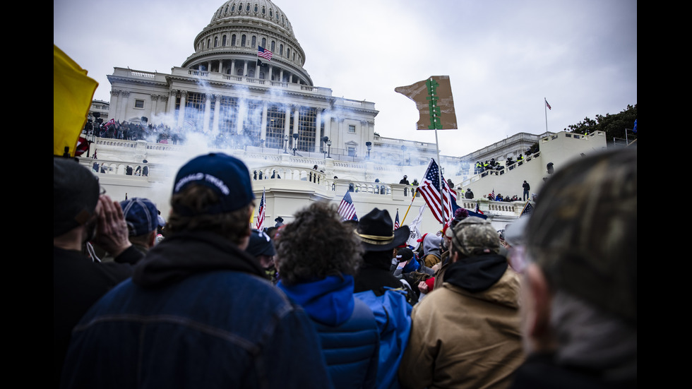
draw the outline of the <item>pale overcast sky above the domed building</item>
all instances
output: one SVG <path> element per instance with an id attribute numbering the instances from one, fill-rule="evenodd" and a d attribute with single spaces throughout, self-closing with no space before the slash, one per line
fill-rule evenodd
<path id="1" fill-rule="evenodd" d="M 110 101 L 114 67 L 170 73 L 222 0 L 53 1 L 53 42 Z M 375 103 L 381 136 L 426 142 L 415 104 L 394 88 L 449 76 L 465 155 L 526 132 L 561 131 L 637 103 L 635 0 L 275 0 L 314 84 Z M 551 105 L 545 110 L 544 98 Z"/>

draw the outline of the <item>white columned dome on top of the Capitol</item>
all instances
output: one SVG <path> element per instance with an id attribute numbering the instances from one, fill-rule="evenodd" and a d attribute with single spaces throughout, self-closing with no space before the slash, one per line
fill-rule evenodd
<path id="1" fill-rule="evenodd" d="M 258 57 L 258 47 L 272 52 L 270 61 Z M 194 49 L 182 67 L 313 85 L 290 20 L 269 0 L 226 1 L 197 35 Z"/>

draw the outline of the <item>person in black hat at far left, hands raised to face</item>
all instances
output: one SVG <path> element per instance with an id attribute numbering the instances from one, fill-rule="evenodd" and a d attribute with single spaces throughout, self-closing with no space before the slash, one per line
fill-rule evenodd
<path id="1" fill-rule="evenodd" d="M 53 371 L 59 385 L 72 328 L 100 297 L 130 277 L 142 254 L 122 210 L 99 196 L 98 179 L 73 158 L 53 157 Z M 100 263 L 90 241 L 115 258 Z"/>

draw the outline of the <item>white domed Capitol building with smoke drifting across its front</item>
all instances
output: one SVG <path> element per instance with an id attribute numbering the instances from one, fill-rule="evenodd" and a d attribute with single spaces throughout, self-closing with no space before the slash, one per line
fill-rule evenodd
<path id="1" fill-rule="evenodd" d="M 431 158 L 438 160 L 436 144 L 380 136 L 375 102 L 335 97 L 330 88 L 315 85 L 303 68 L 309 53 L 289 16 L 272 1 L 226 1 L 210 10 L 209 24 L 191 39 L 194 52 L 170 73 L 114 67 L 108 76 L 110 101 L 93 104 L 90 115 L 98 111 L 105 122 L 168 128 L 168 135 L 182 140 L 88 133 L 90 150 L 80 162 L 93 169 L 114 200 L 147 197 L 166 217 L 177 169 L 196 155 L 218 151 L 248 165 L 257 203 L 266 193 L 269 225 L 275 217 L 290 222 L 311 201 L 338 204 L 347 191 L 358 216 L 377 207 L 392 217 L 398 212 L 400 220 L 407 215 L 403 224 L 417 217 L 424 201 L 399 181 L 403 175 L 422 181 Z M 605 147 L 604 133 L 518 133 L 479 145 L 470 155 L 442 155 L 438 162 L 455 188 L 475 193 L 473 199 L 459 198 L 458 205 L 478 207 L 502 229 L 525 202 L 489 201 L 484 195 L 521 195 L 524 180 L 537 193 L 548 163 L 559 169 Z M 526 155 L 530 148 L 534 151 Z M 520 154 L 522 163 L 506 169 L 485 174 L 474 169 L 477 161 L 504 164 Z M 142 171 L 148 174 L 127 174 Z M 441 227 L 429 210 L 422 220 L 424 233 Z"/>

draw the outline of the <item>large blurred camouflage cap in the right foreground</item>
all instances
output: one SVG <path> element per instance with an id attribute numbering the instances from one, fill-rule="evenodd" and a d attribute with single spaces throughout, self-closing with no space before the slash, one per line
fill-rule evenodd
<path id="1" fill-rule="evenodd" d="M 599 152 L 546 182 L 525 231 L 551 287 L 636 326 L 637 150 Z"/>

